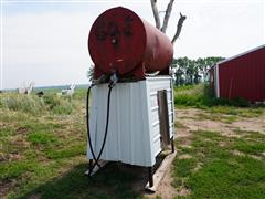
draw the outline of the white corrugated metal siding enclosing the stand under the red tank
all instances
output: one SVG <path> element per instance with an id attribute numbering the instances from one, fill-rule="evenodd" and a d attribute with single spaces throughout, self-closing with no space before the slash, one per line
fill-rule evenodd
<path id="1" fill-rule="evenodd" d="M 118 83 L 112 92 L 110 117 L 106 145 L 100 159 L 131 165 L 152 166 L 161 151 L 157 92 L 171 93 L 170 77 L 150 77 L 134 83 Z M 106 84 L 92 90 L 91 137 L 95 154 L 99 153 L 106 124 Z M 172 96 L 172 94 L 169 94 Z M 169 108 L 173 108 L 169 98 Z M 173 112 L 170 136 L 173 135 Z M 92 158 L 91 150 L 87 150 Z"/>

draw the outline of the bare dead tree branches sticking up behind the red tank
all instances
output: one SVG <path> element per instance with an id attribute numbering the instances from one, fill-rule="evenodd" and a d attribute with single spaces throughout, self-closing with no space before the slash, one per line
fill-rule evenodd
<path id="1" fill-rule="evenodd" d="M 169 22 L 169 18 L 171 15 L 171 11 L 172 11 L 172 7 L 173 7 L 173 3 L 174 3 L 174 0 L 169 0 L 169 3 L 167 6 L 167 10 L 165 11 L 165 17 L 163 17 L 163 21 L 162 21 L 162 25 L 161 25 L 161 22 L 160 22 L 160 17 L 159 17 L 159 11 L 158 11 L 158 8 L 157 8 L 157 0 L 150 0 L 151 2 L 151 8 L 152 8 L 152 13 L 153 13 L 153 18 L 155 18 L 155 21 L 156 21 L 156 27 L 157 29 L 161 30 L 163 33 L 166 33 L 167 31 L 167 28 L 168 28 L 168 22 Z M 180 13 L 180 18 L 179 18 L 179 21 L 177 23 L 177 30 L 176 30 L 176 33 L 171 40 L 171 43 L 173 44 L 176 42 L 176 40 L 179 38 L 180 35 L 180 32 L 182 30 L 182 25 L 183 25 L 183 22 L 184 20 L 187 19 L 186 15 L 182 15 Z"/>

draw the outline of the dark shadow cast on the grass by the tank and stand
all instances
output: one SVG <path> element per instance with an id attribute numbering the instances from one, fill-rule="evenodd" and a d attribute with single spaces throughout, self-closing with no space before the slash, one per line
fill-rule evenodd
<path id="1" fill-rule="evenodd" d="M 20 198 L 141 198 L 148 181 L 145 167 L 109 163 L 93 178 L 86 170 L 87 164 L 77 165 Z"/>

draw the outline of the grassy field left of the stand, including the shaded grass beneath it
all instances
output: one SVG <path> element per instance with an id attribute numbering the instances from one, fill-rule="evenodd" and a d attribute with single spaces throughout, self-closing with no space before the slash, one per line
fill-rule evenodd
<path id="1" fill-rule="evenodd" d="M 93 180 L 84 175 L 85 96 L 0 95 L 0 198 L 142 198 L 132 186 L 145 169 L 110 164 Z"/>

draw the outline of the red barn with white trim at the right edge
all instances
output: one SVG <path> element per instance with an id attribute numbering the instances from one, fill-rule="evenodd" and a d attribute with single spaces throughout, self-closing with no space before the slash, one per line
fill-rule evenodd
<path id="1" fill-rule="evenodd" d="M 209 73 L 216 97 L 265 102 L 265 44 L 218 62 Z"/>

